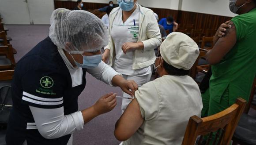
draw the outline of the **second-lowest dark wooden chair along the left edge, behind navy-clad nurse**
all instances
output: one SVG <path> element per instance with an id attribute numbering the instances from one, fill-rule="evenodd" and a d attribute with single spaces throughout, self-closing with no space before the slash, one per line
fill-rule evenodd
<path id="1" fill-rule="evenodd" d="M 13 48 L 11 44 L 0 46 L 0 70 L 10 70 L 15 67 Z"/>

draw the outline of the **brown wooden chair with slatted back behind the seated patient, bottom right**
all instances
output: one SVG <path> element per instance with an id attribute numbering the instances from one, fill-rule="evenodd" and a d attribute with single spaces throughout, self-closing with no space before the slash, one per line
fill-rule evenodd
<path id="1" fill-rule="evenodd" d="M 218 145 L 229 145 L 241 114 L 244 112 L 245 105 L 246 101 L 238 98 L 235 104 L 215 115 L 204 118 L 190 117 L 182 145 L 195 145 L 199 135 L 198 145 L 202 144 L 205 135 L 208 135 L 206 145 L 209 145 L 212 139 L 213 145 L 216 143 Z M 211 138 L 213 132 L 217 132 L 215 138 Z"/>

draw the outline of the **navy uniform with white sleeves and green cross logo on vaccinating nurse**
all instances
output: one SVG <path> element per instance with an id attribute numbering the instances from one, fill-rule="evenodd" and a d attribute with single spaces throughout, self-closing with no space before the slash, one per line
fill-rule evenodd
<path id="1" fill-rule="evenodd" d="M 110 85 L 113 76 L 120 75 L 104 62 L 94 69 L 71 69 L 64 57 L 47 37 L 17 63 L 8 145 L 72 145 L 72 133 L 84 124 L 77 101 L 86 72 Z"/>

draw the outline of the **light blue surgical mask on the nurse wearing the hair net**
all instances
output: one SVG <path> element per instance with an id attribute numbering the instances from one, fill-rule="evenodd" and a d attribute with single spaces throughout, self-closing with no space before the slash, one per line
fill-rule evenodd
<path id="1" fill-rule="evenodd" d="M 102 54 L 92 55 L 92 56 L 84 56 L 84 55 L 82 55 L 82 56 L 83 56 L 83 64 L 76 62 L 72 56 L 73 60 L 75 61 L 75 65 L 80 68 L 93 69 L 93 68 L 97 67 L 100 62 L 102 62 Z"/>

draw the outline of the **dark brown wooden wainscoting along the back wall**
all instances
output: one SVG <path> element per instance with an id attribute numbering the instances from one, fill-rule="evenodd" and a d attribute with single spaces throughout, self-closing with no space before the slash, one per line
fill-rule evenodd
<path id="1" fill-rule="evenodd" d="M 101 7 L 108 6 L 108 4 L 100 4 L 100 3 L 83 3 L 84 6 L 89 9 L 98 9 Z M 72 10 L 76 7 L 75 1 L 62 1 L 62 0 L 54 0 L 54 6 L 56 8 L 67 8 Z M 206 33 L 207 29 L 215 29 L 217 30 L 218 27 L 230 20 L 230 17 L 225 16 L 218 16 L 218 15 L 209 15 L 209 14 L 202 14 L 196 12 L 189 12 L 189 11 L 177 11 L 177 10 L 170 10 L 170 9 L 162 9 L 162 8 L 152 8 L 155 13 L 158 14 L 159 20 L 161 18 L 166 18 L 168 15 L 172 15 L 174 20 L 179 23 L 181 27 L 184 27 L 186 24 L 194 24 L 194 29 L 203 29 L 203 33 Z"/>

